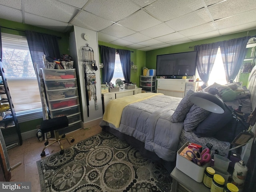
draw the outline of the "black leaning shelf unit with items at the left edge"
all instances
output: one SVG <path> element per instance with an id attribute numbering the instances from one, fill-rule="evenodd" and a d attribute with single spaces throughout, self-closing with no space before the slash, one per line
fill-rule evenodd
<path id="1" fill-rule="evenodd" d="M 6 146 L 22 145 L 20 127 L 2 62 L 0 62 L 0 68 L 0 129 Z"/>

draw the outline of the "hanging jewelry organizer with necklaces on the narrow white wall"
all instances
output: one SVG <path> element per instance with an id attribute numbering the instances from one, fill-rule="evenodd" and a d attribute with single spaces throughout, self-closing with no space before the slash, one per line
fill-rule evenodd
<path id="1" fill-rule="evenodd" d="M 96 61 L 94 60 L 94 52 L 89 44 L 86 43 L 82 47 L 82 59 L 84 63 L 84 80 L 86 90 L 87 116 L 89 117 L 89 101 L 94 100 L 95 110 L 98 110 L 96 96 L 96 74 L 93 71 L 98 70 Z"/>

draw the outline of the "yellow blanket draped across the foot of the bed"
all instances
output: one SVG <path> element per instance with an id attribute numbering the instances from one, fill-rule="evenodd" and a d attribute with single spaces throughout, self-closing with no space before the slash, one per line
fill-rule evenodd
<path id="1" fill-rule="evenodd" d="M 162 95 L 162 93 L 146 92 L 111 100 L 105 109 L 103 120 L 118 128 L 120 126 L 122 112 L 125 106 L 159 94 Z"/>

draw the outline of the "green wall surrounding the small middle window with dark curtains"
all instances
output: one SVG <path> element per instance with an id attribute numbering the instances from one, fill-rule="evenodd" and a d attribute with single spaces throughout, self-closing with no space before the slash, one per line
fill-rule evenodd
<path id="1" fill-rule="evenodd" d="M 111 48 L 116 48 L 116 49 L 124 49 L 124 50 L 130 50 L 133 51 L 131 52 L 131 61 L 134 62 L 134 65 L 138 66 L 138 70 L 135 73 L 131 73 L 131 79 L 130 81 L 133 83 L 136 83 L 139 87 L 140 85 L 140 75 L 142 75 L 142 68 L 146 65 L 145 63 L 145 52 L 141 51 L 141 50 L 136 50 L 136 49 L 132 49 L 132 48 L 128 48 L 128 47 L 124 47 L 124 46 L 118 46 L 118 45 L 114 45 L 114 44 L 110 44 L 110 43 L 106 43 L 103 41 L 98 41 L 99 45 L 103 45 L 103 46 L 107 46 L 107 47 L 111 47 Z M 99 49 L 100 52 L 100 49 Z M 100 62 L 101 62 L 101 56 L 99 54 L 100 57 Z M 101 79 L 102 79 L 102 70 L 100 71 L 100 75 L 101 75 Z M 101 82 L 104 83 L 104 82 Z"/>

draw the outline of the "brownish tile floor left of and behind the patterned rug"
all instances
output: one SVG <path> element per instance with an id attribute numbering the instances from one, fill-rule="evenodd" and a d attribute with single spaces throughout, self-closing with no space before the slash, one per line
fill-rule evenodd
<path id="1" fill-rule="evenodd" d="M 79 129 L 74 132 L 66 134 L 66 137 L 74 137 L 75 141 L 73 143 L 62 140 L 61 143 L 63 148 L 68 148 L 81 140 L 94 136 L 102 131 L 100 126 L 93 126 L 87 129 Z M 58 143 L 52 144 L 46 148 L 46 156 L 41 157 L 40 154 L 44 148 L 44 141 L 39 142 L 35 137 L 29 138 L 23 141 L 22 146 L 16 146 L 8 150 L 10 167 L 11 170 L 11 182 L 31 182 L 31 191 L 40 192 L 40 180 L 39 173 L 36 162 L 42 158 L 49 156 L 60 151 Z M 15 165 L 17 165 L 15 168 Z"/>

